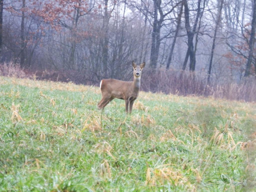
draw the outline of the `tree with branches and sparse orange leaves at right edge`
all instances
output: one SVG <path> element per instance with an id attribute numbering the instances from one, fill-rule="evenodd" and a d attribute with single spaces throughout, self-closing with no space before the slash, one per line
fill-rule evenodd
<path id="1" fill-rule="evenodd" d="M 230 62 L 231 69 L 239 70 L 239 77 L 249 76 L 250 74 L 256 73 L 255 67 L 255 27 L 256 27 L 256 13 L 255 13 L 255 1 L 251 3 L 251 18 L 246 17 L 246 12 L 248 10 L 246 7 L 249 7 L 244 1 L 242 9 L 242 18 L 239 19 L 238 14 L 236 17 L 236 23 L 229 21 L 232 25 L 229 25 L 228 28 L 228 38 L 226 39 L 226 44 L 230 47 L 230 51 L 225 53 L 225 58 Z M 224 9 L 225 10 L 225 9 Z M 230 19 L 228 15 L 225 15 L 226 18 Z M 231 19 L 230 19 L 231 20 Z M 246 23 L 246 20 L 251 22 Z M 236 27 L 236 26 L 239 26 Z M 254 67 L 254 69 L 253 69 Z M 244 74 L 242 75 L 242 72 Z"/>

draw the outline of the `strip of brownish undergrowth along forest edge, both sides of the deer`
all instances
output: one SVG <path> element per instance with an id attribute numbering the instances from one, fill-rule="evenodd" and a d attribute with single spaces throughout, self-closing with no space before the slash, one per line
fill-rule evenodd
<path id="1" fill-rule="evenodd" d="M 97 73 L 89 70 L 29 71 L 20 69 L 19 65 L 14 63 L 0 65 L 0 75 L 18 78 L 33 77 L 37 80 L 48 81 L 72 81 L 76 84 L 95 86 L 99 86 L 102 79 Z M 121 80 L 126 80 L 130 75 L 127 74 Z M 228 78 L 222 80 L 212 78 L 211 82 L 207 83 L 207 77 L 208 74 L 203 72 L 145 69 L 141 78 L 141 90 L 256 102 L 256 79 L 254 76 L 243 78 L 239 83 Z"/>

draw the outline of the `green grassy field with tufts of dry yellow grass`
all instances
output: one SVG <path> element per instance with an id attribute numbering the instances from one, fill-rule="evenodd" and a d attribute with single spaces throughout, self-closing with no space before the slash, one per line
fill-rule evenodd
<path id="1" fill-rule="evenodd" d="M 0 77 L 0 191 L 256 191 L 256 104 Z"/>

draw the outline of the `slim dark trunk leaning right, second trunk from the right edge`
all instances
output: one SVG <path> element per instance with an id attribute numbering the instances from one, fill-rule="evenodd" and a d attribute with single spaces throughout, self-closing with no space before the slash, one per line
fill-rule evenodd
<path id="1" fill-rule="evenodd" d="M 220 7 L 219 7 L 219 10 L 218 10 L 218 15 L 217 15 L 216 25 L 215 25 L 215 30 L 214 30 L 214 36 L 213 36 L 213 45 L 212 45 L 212 48 L 211 48 L 211 59 L 210 59 L 208 79 L 207 79 L 208 84 L 210 83 L 210 76 L 211 76 L 211 69 L 212 69 L 212 62 L 213 62 L 213 54 L 214 54 L 214 49 L 215 49 L 215 41 L 216 41 L 218 26 L 220 24 L 222 7 L 223 7 L 223 0 L 220 0 Z"/>

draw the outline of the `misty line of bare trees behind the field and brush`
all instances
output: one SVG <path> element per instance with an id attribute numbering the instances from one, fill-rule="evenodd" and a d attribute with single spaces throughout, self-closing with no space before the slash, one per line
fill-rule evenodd
<path id="1" fill-rule="evenodd" d="M 0 62 L 129 79 L 131 62 L 255 76 L 256 0 L 0 0 Z"/>

